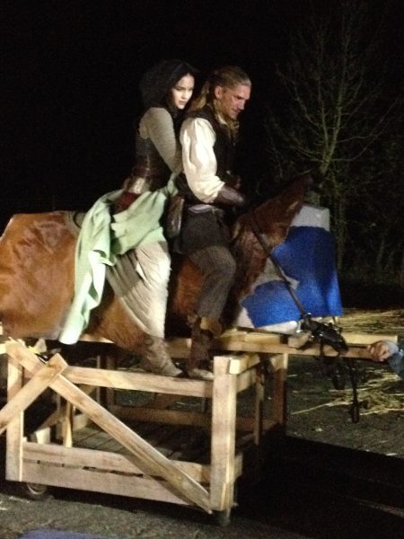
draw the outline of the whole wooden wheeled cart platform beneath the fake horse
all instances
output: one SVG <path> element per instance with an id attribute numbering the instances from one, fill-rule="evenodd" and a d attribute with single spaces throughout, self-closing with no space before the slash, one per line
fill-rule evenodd
<path id="1" fill-rule="evenodd" d="M 361 359 L 369 359 L 370 342 L 397 340 L 344 336 L 346 356 Z M 289 357 L 320 355 L 317 345 L 299 349 L 302 338 L 228 332 L 215 343 L 212 382 L 122 370 L 102 356 L 92 367 L 67 365 L 59 354 L 44 363 L 9 340 L 8 398 L 0 411 L 6 478 L 159 499 L 226 519 L 237 478 L 250 473 L 248 455 L 259 464 L 266 431 L 285 427 Z M 188 358 L 189 345 L 171 340 L 171 356 Z M 264 413 L 267 376 L 273 377 L 270 417 Z M 55 395 L 54 409 L 27 436 L 24 412 L 47 393 Z"/>

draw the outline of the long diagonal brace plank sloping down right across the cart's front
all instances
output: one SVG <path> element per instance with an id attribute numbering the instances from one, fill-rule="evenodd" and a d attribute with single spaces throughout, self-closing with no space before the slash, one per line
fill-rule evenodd
<path id="1" fill-rule="evenodd" d="M 38 369 L 38 358 L 21 344 L 8 344 L 7 353 L 31 372 Z M 136 455 L 145 472 L 161 475 L 181 495 L 190 499 L 199 507 L 204 508 L 208 513 L 212 512 L 206 489 L 190 478 L 189 475 L 183 473 L 180 468 L 156 451 L 153 446 L 147 444 L 143 438 L 137 436 L 127 425 L 102 408 L 98 402 L 94 402 L 75 384 L 67 380 L 65 376 L 59 375 L 50 387 L 65 398 L 66 401 L 71 402 L 78 410 L 88 415 L 94 423 L 108 432 L 110 436 L 116 438 L 119 444 L 127 447 L 129 451 Z"/>

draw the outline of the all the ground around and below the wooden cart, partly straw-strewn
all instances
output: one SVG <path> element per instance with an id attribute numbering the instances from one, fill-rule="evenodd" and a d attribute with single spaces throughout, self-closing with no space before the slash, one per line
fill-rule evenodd
<path id="1" fill-rule="evenodd" d="M 348 309 L 339 323 L 347 331 L 404 337 L 399 310 Z M 367 407 L 354 423 L 349 383 L 335 390 L 318 360 L 291 359 L 286 443 L 269 444 L 261 482 L 240 484 L 239 507 L 228 527 L 196 509 L 83 491 L 57 490 L 45 501 L 25 499 L 20 484 L 4 481 L 0 437 L 0 539 L 40 527 L 111 539 L 399 539 L 404 528 L 404 382 L 389 367 L 362 363 L 359 400 Z"/>

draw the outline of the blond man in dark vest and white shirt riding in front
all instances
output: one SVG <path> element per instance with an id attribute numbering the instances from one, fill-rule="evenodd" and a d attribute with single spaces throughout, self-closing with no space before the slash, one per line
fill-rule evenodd
<path id="1" fill-rule="evenodd" d="M 177 187 L 185 199 L 180 251 L 203 275 L 192 324 L 188 374 L 212 379 L 209 349 L 221 333 L 220 319 L 233 286 L 236 262 L 229 249 L 233 207 L 245 204 L 234 172 L 238 116 L 250 99 L 249 76 L 238 66 L 216 69 L 180 130 L 184 173 Z"/>

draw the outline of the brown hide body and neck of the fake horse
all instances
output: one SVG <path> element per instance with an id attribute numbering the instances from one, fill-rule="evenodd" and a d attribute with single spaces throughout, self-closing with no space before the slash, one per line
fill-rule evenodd
<path id="1" fill-rule="evenodd" d="M 301 176 L 275 199 L 254 210 L 255 219 L 272 247 L 285 240 L 294 215 L 302 207 L 309 182 L 309 175 Z M 76 237 L 66 224 L 66 215 L 64 211 L 18 214 L 6 226 L 0 239 L 0 322 L 5 335 L 57 340 L 74 295 Z M 267 258 L 247 214 L 237 220 L 234 234 L 238 278 L 232 305 L 248 294 Z M 176 266 L 171 272 L 167 313 L 171 334 L 185 327 L 202 282 L 189 260 L 183 259 Z M 229 304 L 229 319 L 232 310 Z M 101 305 L 92 311 L 85 333 L 94 339 L 111 340 L 130 352 L 138 351 L 145 337 L 108 285 Z"/>

